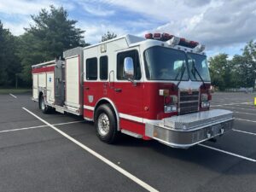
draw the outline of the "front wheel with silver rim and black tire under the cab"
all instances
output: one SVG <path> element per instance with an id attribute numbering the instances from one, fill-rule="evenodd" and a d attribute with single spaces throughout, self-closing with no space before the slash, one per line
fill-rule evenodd
<path id="1" fill-rule="evenodd" d="M 118 138 L 117 122 L 110 105 L 103 104 L 96 110 L 96 134 L 102 142 L 114 143 Z"/>

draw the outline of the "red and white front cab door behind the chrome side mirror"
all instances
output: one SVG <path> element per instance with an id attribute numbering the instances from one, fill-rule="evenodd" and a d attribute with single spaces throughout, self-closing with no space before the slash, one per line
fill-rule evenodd
<path id="1" fill-rule="evenodd" d="M 120 51 L 116 55 L 114 102 L 119 111 L 120 127 L 131 130 L 131 123 L 143 118 L 143 77 L 139 49 Z M 133 62 L 133 76 L 125 77 L 125 60 Z M 137 131 L 135 131 L 137 132 Z"/>

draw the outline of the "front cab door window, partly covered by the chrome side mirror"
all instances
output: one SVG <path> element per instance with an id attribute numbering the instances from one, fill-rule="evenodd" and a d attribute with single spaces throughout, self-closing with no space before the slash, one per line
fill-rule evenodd
<path id="1" fill-rule="evenodd" d="M 137 50 L 129 50 L 121 52 L 117 55 L 117 79 L 126 80 L 123 75 L 125 57 L 131 57 L 134 65 L 134 79 L 140 80 L 142 78 L 140 61 Z"/>

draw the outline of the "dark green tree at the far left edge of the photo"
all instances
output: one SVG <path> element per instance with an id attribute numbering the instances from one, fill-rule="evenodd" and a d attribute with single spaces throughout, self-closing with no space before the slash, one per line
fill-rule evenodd
<path id="1" fill-rule="evenodd" d="M 0 20 L 0 86 L 14 86 L 15 76 L 20 73 L 17 41 L 8 29 L 3 28 Z"/>

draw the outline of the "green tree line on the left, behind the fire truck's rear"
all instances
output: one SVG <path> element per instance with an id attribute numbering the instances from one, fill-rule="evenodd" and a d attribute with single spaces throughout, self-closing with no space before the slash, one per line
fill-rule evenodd
<path id="1" fill-rule="evenodd" d="M 33 25 L 24 34 L 14 36 L 0 20 L 0 87 L 31 86 L 32 65 L 62 57 L 62 52 L 78 46 L 87 46 L 84 31 L 76 27 L 77 20 L 68 19 L 63 7 L 50 6 L 32 15 Z M 115 38 L 107 32 L 102 41 Z"/>

